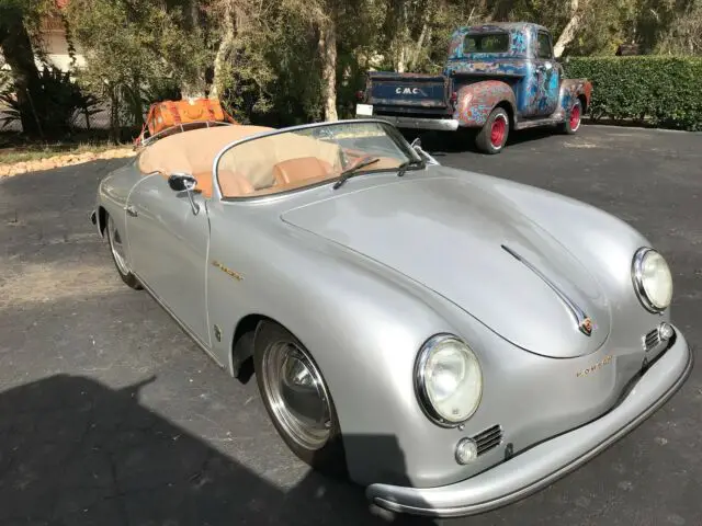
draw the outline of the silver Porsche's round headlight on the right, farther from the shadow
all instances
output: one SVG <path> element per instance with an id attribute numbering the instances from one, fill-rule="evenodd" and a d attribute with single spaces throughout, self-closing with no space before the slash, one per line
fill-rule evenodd
<path id="1" fill-rule="evenodd" d="M 666 260 L 654 249 L 638 249 L 632 268 L 634 289 L 650 312 L 663 312 L 672 299 L 672 275 Z"/>

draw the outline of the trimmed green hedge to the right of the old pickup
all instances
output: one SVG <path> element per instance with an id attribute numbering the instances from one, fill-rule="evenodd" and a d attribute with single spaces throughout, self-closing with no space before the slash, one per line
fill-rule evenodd
<path id="1" fill-rule="evenodd" d="M 570 57 L 564 67 L 592 82 L 593 121 L 702 130 L 702 57 Z"/>

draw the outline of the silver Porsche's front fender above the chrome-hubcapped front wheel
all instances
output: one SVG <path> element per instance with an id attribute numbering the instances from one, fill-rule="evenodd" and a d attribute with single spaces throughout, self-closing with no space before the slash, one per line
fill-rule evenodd
<path id="1" fill-rule="evenodd" d="M 417 353 L 442 332 L 464 338 L 476 352 L 505 348 L 498 353 L 505 356 L 512 346 L 466 320 L 457 307 L 372 260 L 283 224 L 252 227 L 258 221 L 247 225 L 239 214 L 239 221 L 218 221 L 227 211 L 213 207 L 210 259 L 241 279 L 210 265 L 210 323 L 222 328 L 215 353 L 226 359 L 245 316 L 271 318 L 303 342 L 320 368 L 356 483 L 431 487 L 468 477 L 475 467 L 454 458 L 456 430 L 431 423 L 417 402 Z M 492 425 L 489 416 L 473 418 L 465 432 L 476 434 Z M 417 436 L 432 445 L 430 450 L 422 447 L 417 454 Z M 369 450 L 369 441 L 378 437 L 392 439 L 405 453 L 401 467 L 383 451 Z"/>

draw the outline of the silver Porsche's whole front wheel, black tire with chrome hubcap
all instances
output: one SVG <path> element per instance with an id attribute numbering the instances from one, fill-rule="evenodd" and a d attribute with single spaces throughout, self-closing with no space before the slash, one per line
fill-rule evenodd
<path id="1" fill-rule="evenodd" d="M 347 478 L 346 453 L 337 411 L 321 371 L 309 352 L 290 331 L 271 321 L 261 322 L 253 345 L 256 381 L 279 435 L 301 460 L 314 469 Z M 313 382 L 305 384 L 306 379 Z M 291 386 L 293 381 L 297 384 Z M 287 397 L 283 392 L 285 387 Z M 303 400 L 308 403 L 303 405 Z M 306 410 L 308 415 L 320 418 L 308 419 L 317 421 L 309 425 L 303 423 L 297 418 L 302 413 L 296 413 L 290 401 L 296 402 L 298 409 Z"/>

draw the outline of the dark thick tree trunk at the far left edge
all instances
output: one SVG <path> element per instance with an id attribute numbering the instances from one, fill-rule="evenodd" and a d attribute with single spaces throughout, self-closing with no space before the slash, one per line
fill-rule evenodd
<path id="1" fill-rule="evenodd" d="M 20 105 L 22 129 L 27 135 L 41 135 L 42 129 L 34 103 L 42 100 L 39 73 L 34 62 L 32 42 L 22 13 L 3 12 L 0 21 L 0 48 L 12 69 L 12 78 Z M 11 19 L 11 20 L 10 20 Z"/>

